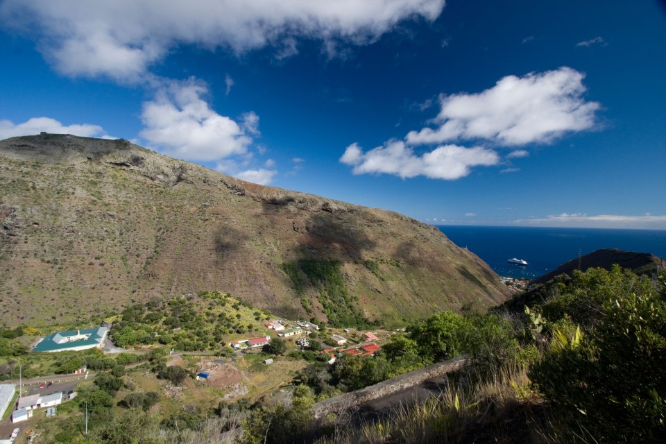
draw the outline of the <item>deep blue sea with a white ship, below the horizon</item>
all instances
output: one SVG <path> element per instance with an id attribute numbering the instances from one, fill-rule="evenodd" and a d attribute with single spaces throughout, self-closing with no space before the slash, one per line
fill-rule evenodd
<path id="1" fill-rule="evenodd" d="M 561 264 L 599 248 L 651 253 L 666 258 L 664 230 L 607 230 L 592 228 L 485 227 L 439 225 L 454 244 L 468 248 L 495 273 L 535 279 Z M 529 265 L 508 264 L 511 257 Z"/>

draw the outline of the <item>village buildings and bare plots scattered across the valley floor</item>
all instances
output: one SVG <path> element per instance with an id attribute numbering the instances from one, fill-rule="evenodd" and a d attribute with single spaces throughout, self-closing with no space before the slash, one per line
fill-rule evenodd
<path id="1" fill-rule="evenodd" d="M 269 350 L 269 345 L 273 341 L 284 341 L 292 353 L 317 350 L 322 359 L 332 365 L 341 355 L 372 357 L 375 352 L 381 350 L 379 343 L 392 333 L 384 331 L 378 334 L 351 328 L 327 327 L 324 335 L 320 326 L 315 323 L 286 321 L 282 318 L 266 319 L 262 327 L 266 334 L 245 336 L 226 343 L 231 352 L 228 358 L 216 358 L 210 352 L 203 350 L 200 353 L 182 352 L 170 348 L 165 350 L 168 353 L 167 366 L 182 366 L 189 370 L 191 377 L 183 383 L 186 393 L 188 389 L 189 393 L 205 391 L 209 386 L 210 390 L 225 392 L 222 399 L 234 400 L 252 395 L 248 386 L 252 384 L 253 377 L 257 378 L 257 375 L 262 373 L 280 374 L 278 380 L 266 376 L 262 384 L 256 384 L 260 393 L 271 393 L 276 389 L 279 390 L 284 384 L 290 384 L 289 378 L 285 379 L 284 375 L 293 375 L 305 364 L 305 361 L 304 364 L 298 362 L 295 364 L 293 360 L 268 354 L 266 350 Z M 98 327 L 53 332 L 37 339 L 33 343 L 31 353 L 53 354 L 96 349 L 104 355 L 132 353 L 139 357 L 150 354 L 151 350 L 160 349 L 156 346 L 139 345 L 119 348 L 109 335 L 111 329 L 112 324 L 104 322 Z M 246 358 L 240 359 L 241 356 Z M 266 370 L 257 369 L 256 366 L 250 366 L 250 370 L 241 365 L 242 362 L 255 361 L 253 356 L 262 357 L 259 362 Z M 274 366 L 277 366 L 275 370 L 269 370 Z M 281 366 L 284 368 L 280 368 Z M 81 382 L 91 384 L 94 379 L 95 373 L 91 373 L 85 366 L 68 375 L 51 375 L 25 380 L 22 380 L 19 369 L 19 384 L 0 384 L 0 418 L 3 418 L 0 422 L 0 444 L 32 443 L 37 425 L 43 420 L 56 417 L 58 409 L 63 404 L 74 400 Z M 187 395 L 183 393 L 183 388 L 165 386 L 164 397 L 182 400 Z M 71 408 L 67 410 L 71 411 Z M 24 423 L 26 426 L 21 427 Z"/>

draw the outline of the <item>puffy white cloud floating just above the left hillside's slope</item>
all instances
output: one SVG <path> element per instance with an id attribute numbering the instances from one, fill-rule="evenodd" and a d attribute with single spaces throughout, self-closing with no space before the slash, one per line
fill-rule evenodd
<path id="1" fill-rule="evenodd" d="M 256 130 L 259 117 L 244 115 L 242 127 L 221 116 L 201 99 L 205 85 L 195 80 L 167 82 L 142 111 L 144 130 L 140 133 L 159 151 L 185 160 L 219 160 L 247 152 L 253 141 L 246 130 Z"/>

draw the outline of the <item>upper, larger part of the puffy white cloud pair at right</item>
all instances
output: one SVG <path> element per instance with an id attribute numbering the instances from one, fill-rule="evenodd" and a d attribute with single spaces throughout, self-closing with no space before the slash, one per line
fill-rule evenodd
<path id="1" fill-rule="evenodd" d="M 441 96 L 436 128 L 411 131 L 409 144 L 485 139 L 502 146 L 551 142 L 588 130 L 600 105 L 586 102 L 583 74 L 568 67 L 506 76 L 479 94 Z"/>

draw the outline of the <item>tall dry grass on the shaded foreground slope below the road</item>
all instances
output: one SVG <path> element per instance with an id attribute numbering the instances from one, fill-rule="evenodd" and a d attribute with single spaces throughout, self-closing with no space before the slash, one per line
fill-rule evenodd
<path id="1" fill-rule="evenodd" d="M 527 370 L 513 366 L 483 381 L 470 377 L 450 383 L 436 397 L 395 409 L 389 420 L 341 427 L 333 418 L 329 427 L 335 433 L 316 443 L 537 442 L 545 436 L 535 435 L 533 425 L 543 422 L 535 411 L 543 411 L 543 402 L 530 391 Z"/>

